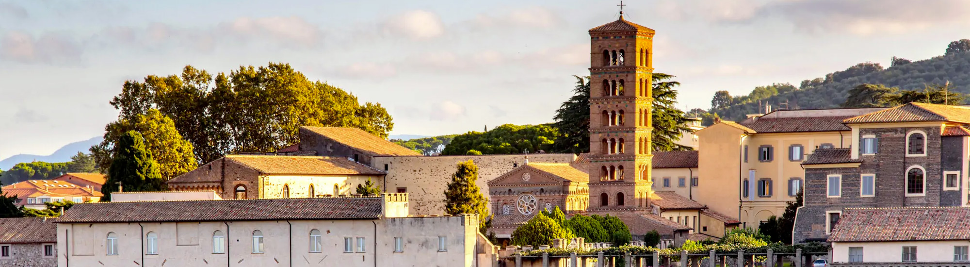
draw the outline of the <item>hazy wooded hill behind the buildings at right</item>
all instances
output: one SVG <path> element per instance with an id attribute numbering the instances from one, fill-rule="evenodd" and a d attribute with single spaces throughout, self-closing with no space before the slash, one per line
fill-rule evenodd
<path id="1" fill-rule="evenodd" d="M 729 96 L 727 91 L 719 91 L 708 112 L 739 120 L 749 114 L 763 113 L 759 108 L 764 105 L 771 105 L 773 109 L 780 104 L 784 107 L 784 103 L 789 109 L 837 108 L 845 102 L 848 91 L 861 83 L 913 90 L 947 82 L 955 92 L 970 93 L 970 52 L 948 49 L 945 55 L 919 61 L 893 57 L 889 68 L 879 63 L 858 63 L 823 78 L 802 81 L 798 86 L 789 83 L 759 86 L 748 95 Z"/>

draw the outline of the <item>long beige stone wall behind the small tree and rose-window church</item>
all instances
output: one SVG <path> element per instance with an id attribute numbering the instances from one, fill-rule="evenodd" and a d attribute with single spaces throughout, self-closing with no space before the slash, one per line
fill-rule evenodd
<path id="1" fill-rule="evenodd" d="M 575 157 L 571 153 L 529 154 L 529 161 L 569 163 Z M 486 198 L 491 199 L 487 183 L 522 166 L 526 157 L 524 154 L 375 156 L 371 165 L 387 171 L 384 183 L 380 184 L 386 192 L 408 193 L 410 214 L 440 215 L 444 214 L 444 190 L 451 182 L 451 175 L 458 170 L 458 162 L 469 159 L 478 166 L 478 181 L 475 184 Z"/>

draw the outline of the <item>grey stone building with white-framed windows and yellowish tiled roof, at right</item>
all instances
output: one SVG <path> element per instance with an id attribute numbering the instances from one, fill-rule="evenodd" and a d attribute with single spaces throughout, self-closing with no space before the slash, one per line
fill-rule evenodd
<path id="1" fill-rule="evenodd" d="M 843 123 L 850 148 L 802 163 L 794 242 L 824 242 L 848 208 L 967 206 L 970 108 L 910 103 Z"/>

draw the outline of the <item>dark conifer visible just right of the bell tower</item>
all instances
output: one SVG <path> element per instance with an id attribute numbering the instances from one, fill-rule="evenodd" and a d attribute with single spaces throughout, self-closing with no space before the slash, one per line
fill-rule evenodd
<path id="1" fill-rule="evenodd" d="M 683 111 L 676 107 L 677 90 L 673 87 L 680 85 L 680 83 L 670 81 L 675 78 L 672 75 L 655 73 L 653 77 L 654 102 L 652 105 L 653 113 L 651 114 L 653 118 L 652 126 L 654 127 L 652 131 L 653 150 L 694 150 L 691 147 L 676 143 L 685 132 L 693 131 L 688 123 L 696 121 L 694 118 L 687 117 Z"/>

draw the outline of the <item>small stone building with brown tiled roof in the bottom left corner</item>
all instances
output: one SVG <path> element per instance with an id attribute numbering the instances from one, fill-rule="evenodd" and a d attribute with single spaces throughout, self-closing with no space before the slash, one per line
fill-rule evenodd
<path id="1" fill-rule="evenodd" d="M 57 266 L 55 218 L 0 218 L 0 266 Z"/>

